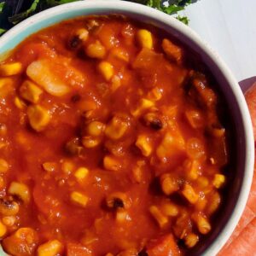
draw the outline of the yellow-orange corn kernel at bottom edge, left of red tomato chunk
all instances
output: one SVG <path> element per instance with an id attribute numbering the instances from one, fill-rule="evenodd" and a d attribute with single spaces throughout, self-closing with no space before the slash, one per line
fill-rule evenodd
<path id="1" fill-rule="evenodd" d="M 63 251 L 61 241 L 51 240 L 38 247 L 38 256 L 56 256 Z"/>

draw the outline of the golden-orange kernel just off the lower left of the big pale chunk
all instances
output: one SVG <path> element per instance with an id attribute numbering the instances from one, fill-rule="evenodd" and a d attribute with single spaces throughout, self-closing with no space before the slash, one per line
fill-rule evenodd
<path id="1" fill-rule="evenodd" d="M 42 93 L 43 90 L 29 80 L 20 86 L 20 96 L 28 102 L 37 103 Z"/>

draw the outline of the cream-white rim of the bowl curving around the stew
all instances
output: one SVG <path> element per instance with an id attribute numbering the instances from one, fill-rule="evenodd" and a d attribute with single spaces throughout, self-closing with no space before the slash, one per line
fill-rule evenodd
<path id="1" fill-rule="evenodd" d="M 226 241 L 230 238 L 232 232 L 236 228 L 236 224 L 238 224 L 239 219 L 241 218 L 241 214 L 246 207 L 247 198 L 250 192 L 251 184 L 253 181 L 253 165 L 254 165 L 254 139 L 253 139 L 253 125 L 250 118 L 250 114 L 247 108 L 247 103 L 245 98 L 241 92 L 241 88 L 239 84 L 236 82 L 235 76 L 230 72 L 229 67 L 224 63 L 224 61 L 220 58 L 218 53 L 213 50 L 207 42 L 201 39 L 196 32 L 194 32 L 189 26 L 185 26 L 182 22 L 176 20 L 170 15 L 166 15 L 156 9 L 149 8 L 139 3 L 131 3 L 120 0 L 87 0 L 87 1 L 78 1 L 73 3 L 66 3 L 63 5 L 56 6 L 51 9 L 46 9 L 43 12 L 38 13 L 37 15 L 33 15 L 32 17 L 23 20 L 18 25 L 14 26 L 9 32 L 3 34 L 0 37 L 0 49 L 9 49 L 9 42 L 17 37 L 20 32 L 25 32 L 24 35 L 26 37 L 30 36 L 33 32 L 38 31 L 44 27 L 52 26 L 56 22 L 49 23 L 46 26 L 40 26 L 39 29 L 36 29 L 33 32 L 27 32 L 27 30 L 39 23 L 49 20 L 55 15 L 64 15 L 69 12 L 73 12 L 75 10 L 85 10 L 85 9 L 95 9 L 95 10 L 104 10 L 108 12 L 125 12 L 131 13 L 134 15 L 143 15 L 147 16 L 148 19 L 160 21 L 166 26 L 172 27 L 179 34 L 189 38 L 198 49 L 201 49 L 206 55 L 208 55 L 211 60 L 218 66 L 221 73 L 224 75 L 227 83 L 229 84 L 229 89 L 232 91 L 236 98 L 237 106 L 240 109 L 242 127 L 245 131 L 245 166 L 244 166 L 244 174 L 241 183 L 241 189 L 236 200 L 236 205 L 233 209 L 233 212 L 230 215 L 230 218 L 220 230 L 218 236 L 212 241 L 212 243 L 206 248 L 205 252 L 201 255 L 212 256 L 216 255 L 220 249 L 224 246 Z M 93 14 L 93 13 L 91 13 Z M 79 16 L 79 15 L 77 15 Z M 75 17 L 75 15 L 73 16 Z M 63 18 L 63 20 L 68 20 Z M 61 20 L 59 20 L 61 21 Z M 20 42 L 24 40 L 24 35 L 21 36 Z M 22 38 L 23 37 L 23 38 Z M 20 42 L 15 43 L 15 46 L 20 44 Z M 5 50 L 3 50 L 5 52 Z"/>

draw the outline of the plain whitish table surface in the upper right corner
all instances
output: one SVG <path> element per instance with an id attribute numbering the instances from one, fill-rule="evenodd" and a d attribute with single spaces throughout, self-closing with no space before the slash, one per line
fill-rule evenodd
<path id="1" fill-rule="evenodd" d="M 256 0 L 200 0 L 183 11 L 238 81 L 256 76 L 255 10 Z"/>

